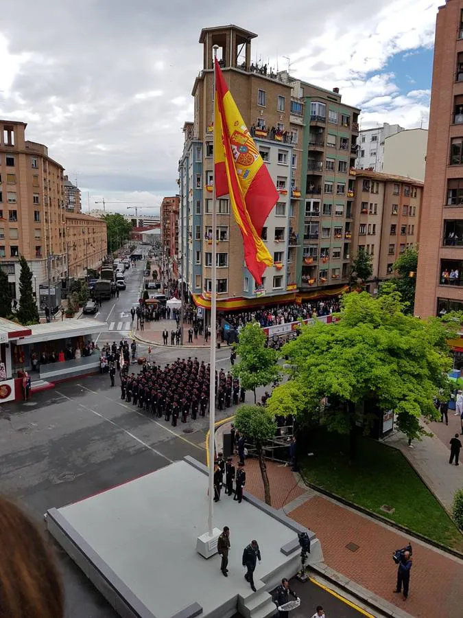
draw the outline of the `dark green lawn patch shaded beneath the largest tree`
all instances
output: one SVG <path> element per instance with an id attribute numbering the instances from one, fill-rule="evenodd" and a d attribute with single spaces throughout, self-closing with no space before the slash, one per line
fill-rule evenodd
<path id="1" fill-rule="evenodd" d="M 308 450 L 314 455 L 300 461 L 307 481 L 463 551 L 462 534 L 399 450 L 359 437 L 357 461 L 349 464 L 344 436 L 319 430 L 311 438 L 315 446 Z M 394 513 L 381 511 L 381 505 Z"/>

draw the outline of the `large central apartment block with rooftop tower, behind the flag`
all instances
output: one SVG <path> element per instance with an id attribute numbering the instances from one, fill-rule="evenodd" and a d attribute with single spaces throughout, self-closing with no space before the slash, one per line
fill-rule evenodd
<path id="1" fill-rule="evenodd" d="M 322 248 L 337 242 L 335 222 L 344 240 L 351 198 L 348 170 L 355 165 L 359 109 L 345 106 L 337 89 L 320 89 L 286 71 L 275 73 L 266 65 L 254 65 L 251 41 L 256 36 L 234 25 L 202 30 L 204 62 L 193 84 L 194 119 L 183 128 L 180 252 L 182 273 L 196 301 L 211 293 L 213 47 L 217 45 L 228 88 L 279 194 L 262 233 L 274 266 L 267 268 L 259 287 L 244 265 L 241 233 L 230 214 L 229 201 L 217 201 L 219 308 L 292 301 L 298 289 L 322 293 L 341 288 L 343 282 L 342 268 L 333 276 L 329 268 L 318 272 L 318 256 Z M 336 221 L 335 203 L 342 208 L 342 217 Z M 322 220 L 330 227 L 326 239 L 320 238 Z M 348 240 L 342 243 L 342 255 L 345 244 Z M 311 266 L 310 277 L 303 264 L 309 255 L 317 263 L 316 271 Z"/>

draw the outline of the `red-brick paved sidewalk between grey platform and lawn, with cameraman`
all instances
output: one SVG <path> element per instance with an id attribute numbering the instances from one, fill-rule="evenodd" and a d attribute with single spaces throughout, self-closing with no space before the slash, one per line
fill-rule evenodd
<path id="1" fill-rule="evenodd" d="M 226 423 L 217 429 L 217 448 L 229 427 L 230 423 Z M 361 587 L 366 588 L 364 599 L 372 599 L 391 615 L 392 607 L 399 610 L 396 615 L 402 610 L 416 618 L 462 615 L 462 560 L 309 490 L 287 466 L 268 461 L 267 471 L 272 505 L 277 509 L 283 507 L 289 517 L 316 533 L 325 560 L 320 566 L 327 572 L 337 572 L 335 577 L 340 584 L 360 595 Z M 263 483 L 255 459 L 246 461 L 246 491 L 263 499 Z M 392 553 L 409 540 L 414 548 L 414 566 L 409 598 L 403 601 L 401 595 L 392 592 L 397 571 Z M 349 544 L 354 545 L 347 547 Z"/>

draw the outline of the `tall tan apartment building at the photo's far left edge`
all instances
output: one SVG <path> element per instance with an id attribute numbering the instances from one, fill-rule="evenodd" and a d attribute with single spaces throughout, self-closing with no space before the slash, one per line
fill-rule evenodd
<path id="1" fill-rule="evenodd" d="M 0 266 L 16 299 L 20 255 L 37 285 L 67 273 L 63 168 L 47 146 L 25 139 L 26 126 L 0 120 Z"/>

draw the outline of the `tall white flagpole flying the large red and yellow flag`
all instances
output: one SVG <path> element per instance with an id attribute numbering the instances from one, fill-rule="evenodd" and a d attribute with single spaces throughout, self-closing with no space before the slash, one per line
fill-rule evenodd
<path id="1" fill-rule="evenodd" d="M 217 59 L 218 45 L 214 45 L 214 83 L 213 83 L 213 135 L 215 138 L 215 130 L 217 123 L 215 122 L 215 60 Z M 214 169 L 214 168 L 213 168 Z M 209 378 L 209 536 L 213 536 L 214 529 L 214 459 L 215 459 L 215 347 L 217 345 L 217 330 L 215 321 L 217 320 L 217 243 L 215 235 L 217 233 L 217 209 L 215 197 L 215 169 L 213 171 L 212 183 L 212 273 L 211 273 L 211 374 Z"/>

